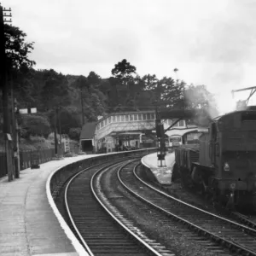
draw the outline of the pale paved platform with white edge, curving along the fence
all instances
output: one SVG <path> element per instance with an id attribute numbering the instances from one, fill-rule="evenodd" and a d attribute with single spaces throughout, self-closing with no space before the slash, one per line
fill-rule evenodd
<path id="1" fill-rule="evenodd" d="M 49 205 L 46 181 L 61 166 L 93 156 L 50 161 L 10 183 L 0 179 L 0 256 L 79 255 Z"/>

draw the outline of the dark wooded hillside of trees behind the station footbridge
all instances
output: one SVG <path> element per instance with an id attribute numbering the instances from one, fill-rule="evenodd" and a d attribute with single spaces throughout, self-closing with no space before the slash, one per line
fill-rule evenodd
<path id="1" fill-rule="evenodd" d="M 212 113 L 216 115 L 213 96 L 206 86 L 188 85 L 167 76 L 141 75 L 125 59 L 113 63 L 112 76 L 104 79 L 93 71 L 86 76 L 74 76 L 54 69 L 36 70 L 35 62 L 27 56 L 33 43 L 26 43 L 26 34 L 19 28 L 5 27 L 8 83 L 14 88 L 17 108 L 38 109 L 38 113 L 20 114 L 20 137 L 48 137 L 55 124 L 55 111 L 61 133 L 75 140 L 79 139 L 83 123 L 110 112 L 154 109 L 155 105 L 171 109 L 197 108 L 201 109 L 201 115 L 194 121 L 200 125 L 207 125 Z M 0 125 L 3 131 L 3 104 Z M 58 130 L 60 132 L 59 125 Z"/>

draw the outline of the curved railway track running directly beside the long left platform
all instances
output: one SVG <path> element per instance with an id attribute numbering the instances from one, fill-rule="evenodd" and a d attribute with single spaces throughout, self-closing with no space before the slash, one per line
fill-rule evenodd
<path id="1" fill-rule="evenodd" d="M 96 183 L 97 174 L 129 162 L 131 160 L 101 167 L 92 166 L 86 172 L 79 172 L 67 183 L 65 201 L 68 216 L 79 241 L 90 256 L 163 255 L 150 246 L 151 241 L 143 241 L 122 224 L 98 196 L 101 191 Z"/>

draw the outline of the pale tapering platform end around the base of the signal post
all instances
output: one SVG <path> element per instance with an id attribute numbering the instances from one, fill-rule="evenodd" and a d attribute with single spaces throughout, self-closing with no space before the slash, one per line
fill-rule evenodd
<path id="1" fill-rule="evenodd" d="M 166 167 L 158 166 L 157 153 L 144 156 L 142 163 L 153 172 L 160 184 L 172 183 L 172 168 L 175 164 L 174 152 L 166 154 Z"/>

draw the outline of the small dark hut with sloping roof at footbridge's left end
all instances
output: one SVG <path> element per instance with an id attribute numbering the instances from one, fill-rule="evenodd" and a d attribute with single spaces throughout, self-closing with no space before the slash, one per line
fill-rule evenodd
<path id="1" fill-rule="evenodd" d="M 95 152 L 95 131 L 96 122 L 86 123 L 82 127 L 80 134 L 80 149 L 87 154 L 92 154 Z"/>

